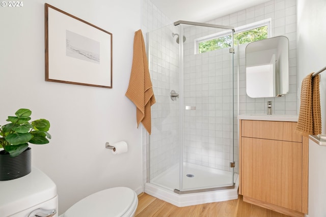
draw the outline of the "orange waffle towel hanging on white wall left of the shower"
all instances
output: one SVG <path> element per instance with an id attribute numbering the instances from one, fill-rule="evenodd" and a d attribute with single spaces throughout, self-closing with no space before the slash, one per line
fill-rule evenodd
<path id="1" fill-rule="evenodd" d="M 151 134 L 151 106 L 156 101 L 141 29 L 134 34 L 132 67 L 126 97 L 137 107 L 137 128 L 142 122 L 147 132 Z"/>

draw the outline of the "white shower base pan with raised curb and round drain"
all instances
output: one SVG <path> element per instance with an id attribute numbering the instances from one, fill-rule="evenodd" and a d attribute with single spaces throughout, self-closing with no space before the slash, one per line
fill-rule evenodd
<path id="1" fill-rule="evenodd" d="M 234 188 L 224 189 L 222 187 L 220 190 L 206 191 L 204 187 L 220 186 L 220 184 L 228 182 L 231 172 L 188 163 L 184 163 L 184 174 L 189 176 L 184 179 L 183 190 L 188 191 L 196 187 L 196 189 L 202 188 L 203 191 L 188 194 L 175 193 L 174 188 L 179 186 L 178 168 L 178 166 L 172 167 L 152 179 L 151 183 L 145 183 L 145 193 L 178 207 L 238 199 L 237 174 L 234 174 L 234 180 L 236 180 Z M 194 176 L 192 177 L 192 175 Z M 207 181 L 211 183 L 207 183 Z"/>

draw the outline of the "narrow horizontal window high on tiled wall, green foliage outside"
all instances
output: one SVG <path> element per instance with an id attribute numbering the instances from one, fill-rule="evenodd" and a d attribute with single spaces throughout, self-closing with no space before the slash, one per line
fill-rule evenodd
<path id="1" fill-rule="evenodd" d="M 269 38 L 270 20 L 263 20 L 235 28 L 234 45 L 245 44 Z M 197 53 L 231 47 L 232 37 L 229 33 L 218 33 L 195 40 Z"/>

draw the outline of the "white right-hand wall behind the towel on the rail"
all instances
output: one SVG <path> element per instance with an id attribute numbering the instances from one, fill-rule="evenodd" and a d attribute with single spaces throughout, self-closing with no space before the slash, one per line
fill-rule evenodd
<path id="1" fill-rule="evenodd" d="M 297 83 L 300 98 L 301 82 L 311 72 L 326 66 L 326 2 L 297 0 Z M 326 133 L 326 71 L 320 74 L 322 134 Z M 300 100 L 299 100 L 300 101 Z M 298 103 L 298 108 L 300 102 Z"/>

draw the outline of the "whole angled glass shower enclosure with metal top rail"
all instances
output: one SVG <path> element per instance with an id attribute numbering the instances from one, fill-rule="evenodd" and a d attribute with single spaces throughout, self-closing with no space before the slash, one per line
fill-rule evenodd
<path id="1" fill-rule="evenodd" d="M 177 194 L 234 187 L 233 28 L 178 21 L 147 33 L 156 104 L 147 182 Z M 230 36 L 228 47 L 199 44 Z"/>

